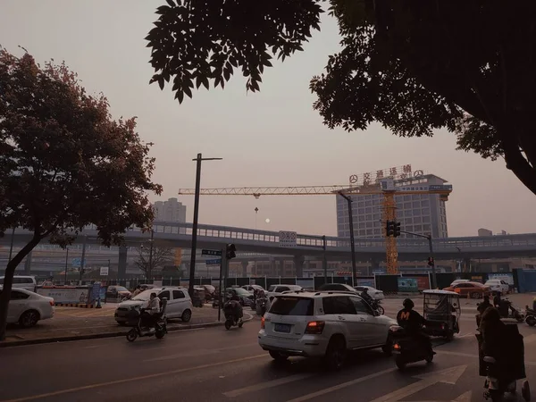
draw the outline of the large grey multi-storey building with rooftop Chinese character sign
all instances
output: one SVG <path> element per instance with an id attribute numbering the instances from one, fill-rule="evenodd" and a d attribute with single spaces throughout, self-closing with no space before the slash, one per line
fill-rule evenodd
<path id="1" fill-rule="evenodd" d="M 412 171 L 411 165 L 390 168 L 376 173 L 350 176 L 350 187 L 366 188 L 380 183 L 385 178 L 394 180 L 395 188 L 404 191 L 423 191 L 443 186 L 447 180 L 423 171 Z M 354 235 L 359 238 L 382 238 L 385 219 L 382 212 L 384 196 L 382 194 L 353 195 L 352 212 Z M 337 233 L 339 237 L 349 238 L 350 226 L 348 202 L 336 197 Z M 421 235 L 431 234 L 433 238 L 447 238 L 447 208 L 445 200 L 438 194 L 415 194 L 395 196 L 397 221 L 401 230 Z M 402 234 L 400 237 L 411 237 Z"/>

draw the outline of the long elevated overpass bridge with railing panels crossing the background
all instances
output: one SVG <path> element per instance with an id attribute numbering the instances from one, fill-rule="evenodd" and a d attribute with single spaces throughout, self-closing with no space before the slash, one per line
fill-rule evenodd
<path id="1" fill-rule="evenodd" d="M 191 247 L 191 223 L 155 222 L 155 245 L 165 247 Z M 29 230 L 16 229 L 13 244 L 23 246 L 31 237 Z M 77 239 L 75 244 L 86 241 L 89 245 L 100 244 L 96 228 L 88 226 Z M 121 254 L 128 252 L 129 247 L 139 247 L 149 244 L 149 232 L 138 228 L 125 233 L 125 244 L 117 247 Z M 11 231 L 7 231 L 0 245 L 9 247 Z M 197 229 L 197 247 L 220 249 L 227 243 L 234 243 L 240 254 L 288 255 L 295 261 L 303 258 L 322 258 L 324 253 L 327 260 L 349 261 L 350 241 L 346 238 L 298 234 L 297 246 L 284 248 L 279 245 L 279 232 L 268 230 L 252 230 L 230 226 L 214 226 L 200 224 Z M 356 258 L 358 261 L 381 262 L 385 259 L 385 239 L 355 239 Z M 324 250 L 325 247 L 325 250 Z M 508 258 L 536 256 L 536 233 L 501 235 L 490 237 L 461 237 L 433 239 L 434 256 L 436 260 L 461 260 L 465 258 Z M 423 261 L 429 255 L 427 239 L 398 239 L 399 261 Z M 252 260 L 257 259 L 252 255 Z M 125 257 L 126 264 L 126 257 Z"/>

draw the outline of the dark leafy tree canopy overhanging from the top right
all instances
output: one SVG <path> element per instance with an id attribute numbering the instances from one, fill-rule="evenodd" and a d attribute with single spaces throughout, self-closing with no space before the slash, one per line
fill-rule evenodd
<path id="1" fill-rule="evenodd" d="M 331 129 L 380 122 L 401 137 L 446 128 L 458 149 L 504 157 L 536 194 L 536 3 L 498 0 L 166 0 L 158 7 L 151 82 L 225 85 L 234 71 L 260 88 L 272 56 L 284 60 L 320 29 L 322 5 L 342 50 L 311 81 Z"/>

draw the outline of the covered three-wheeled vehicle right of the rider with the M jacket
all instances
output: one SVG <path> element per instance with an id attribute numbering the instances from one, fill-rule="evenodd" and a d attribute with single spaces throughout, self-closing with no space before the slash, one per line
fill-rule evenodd
<path id="1" fill-rule="evenodd" d="M 448 290 L 423 290 L 423 317 L 427 321 L 426 332 L 434 337 L 451 340 L 460 332 L 462 314 L 460 295 Z"/>

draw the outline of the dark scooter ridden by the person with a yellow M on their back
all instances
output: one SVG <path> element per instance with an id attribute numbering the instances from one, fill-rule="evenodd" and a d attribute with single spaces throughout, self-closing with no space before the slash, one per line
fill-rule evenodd
<path id="1" fill-rule="evenodd" d="M 392 353 L 398 370 L 404 370 L 406 364 L 426 361 L 431 363 L 434 352 L 425 343 L 409 337 L 402 327 L 393 325 L 389 328 L 389 336 L 393 339 Z"/>

